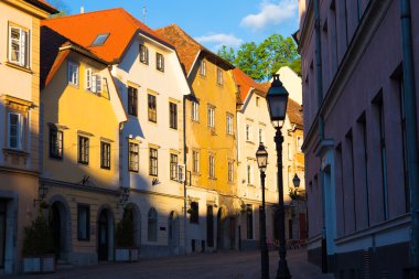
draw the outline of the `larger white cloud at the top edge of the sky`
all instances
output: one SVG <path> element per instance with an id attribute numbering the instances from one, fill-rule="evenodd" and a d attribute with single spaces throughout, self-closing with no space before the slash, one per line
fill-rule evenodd
<path id="1" fill-rule="evenodd" d="M 264 0 L 260 3 L 260 12 L 243 18 L 240 26 L 257 31 L 267 25 L 278 25 L 296 15 L 297 3 L 296 0 Z"/>

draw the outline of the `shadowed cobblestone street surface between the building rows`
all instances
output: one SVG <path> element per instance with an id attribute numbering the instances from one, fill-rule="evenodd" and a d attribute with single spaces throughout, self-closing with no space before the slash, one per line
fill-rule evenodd
<path id="1" fill-rule="evenodd" d="M 275 278 L 278 266 L 278 254 L 271 251 L 270 278 Z M 290 250 L 288 264 L 293 279 L 333 278 L 322 275 L 320 269 L 307 261 L 305 250 Z M 219 253 L 196 254 L 193 256 L 168 257 L 160 259 L 143 259 L 137 264 L 103 264 L 99 266 L 58 270 L 53 275 L 14 276 L 9 278 L 45 278 L 45 279 L 259 279 L 260 254 Z"/>

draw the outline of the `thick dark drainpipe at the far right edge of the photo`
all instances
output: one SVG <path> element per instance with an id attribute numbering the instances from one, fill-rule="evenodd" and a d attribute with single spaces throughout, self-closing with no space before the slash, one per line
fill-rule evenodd
<path id="1" fill-rule="evenodd" d="M 406 104 L 407 161 L 410 185 L 410 270 L 419 275 L 419 189 L 418 189 L 418 129 L 416 112 L 416 88 L 413 68 L 413 47 L 411 32 L 410 0 L 400 1 L 402 71 Z M 412 278 L 412 277 L 409 277 Z M 418 278 L 418 277 L 415 277 Z"/>

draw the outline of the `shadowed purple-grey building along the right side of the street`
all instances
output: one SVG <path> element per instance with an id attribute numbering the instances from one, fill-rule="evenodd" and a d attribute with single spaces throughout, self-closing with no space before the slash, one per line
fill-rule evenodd
<path id="1" fill-rule="evenodd" d="M 309 259 L 337 278 L 402 278 L 419 265 L 419 3 L 299 7 Z"/>

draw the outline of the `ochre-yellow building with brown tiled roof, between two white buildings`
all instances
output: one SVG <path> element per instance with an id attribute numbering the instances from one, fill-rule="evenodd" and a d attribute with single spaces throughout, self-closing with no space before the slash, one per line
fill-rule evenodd
<path id="1" fill-rule="evenodd" d="M 185 101 L 189 251 L 238 248 L 234 68 L 180 26 L 157 32 L 178 50 L 192 93 Z"/>

